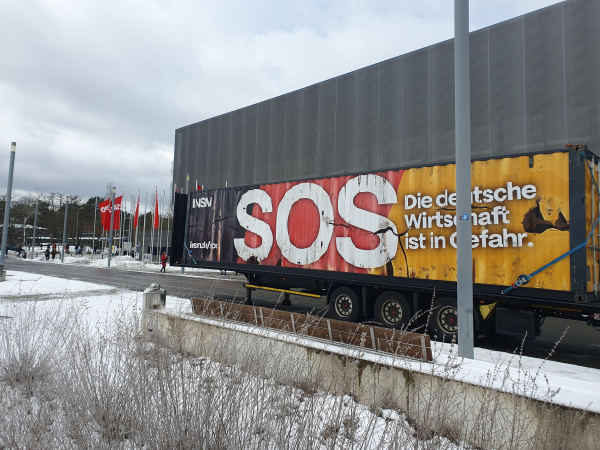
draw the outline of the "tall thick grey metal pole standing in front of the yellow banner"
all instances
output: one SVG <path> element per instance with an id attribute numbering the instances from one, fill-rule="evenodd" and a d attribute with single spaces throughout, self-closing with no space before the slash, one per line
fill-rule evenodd
<path id="1" fill-rule="evenodd" d="M 456 126 L 456 270 L 458 354 L 473 359 L 473 247 L 471 244 L 471 107 L 469 0 L 454 0 L 454 114 Z"/>

